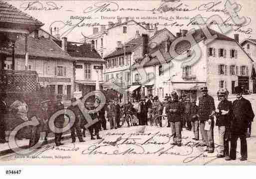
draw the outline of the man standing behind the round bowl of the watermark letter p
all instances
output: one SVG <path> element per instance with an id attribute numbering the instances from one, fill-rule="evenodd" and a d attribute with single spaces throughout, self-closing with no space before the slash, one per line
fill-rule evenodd
<path id="1" fill-rule="evenodd" d="M 88 111 L 90 117 L 92 120 L 98 120 L 99 119 L 99 116 L 98 116 L 98 113 L 95 111 L 95 103 L 93 101 L 92 98 L 87 98 L 86 101 L 85 101 L 85 108 Z M 86 120 L 86 119 L 85 119 Z M 89 132 L 90 132 L 90 135 L 91 135 L 91 140 L 95 140 L 95 138 L 93 137 L 93 130 L 95 132 L 95 136 L 97 137 L 97 139 L 102 139 L 100 136 L 99 136 L 99 122 L 96 122 L 94 123 L 93 125 L 91 125 L 88 129 L 89 129 Z"/>

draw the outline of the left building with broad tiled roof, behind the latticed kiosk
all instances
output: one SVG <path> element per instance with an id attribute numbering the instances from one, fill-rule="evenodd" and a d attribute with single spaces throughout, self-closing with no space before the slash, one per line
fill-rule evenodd
<path id="1" fill-rule="evenodd" d="M 24 37 L 15 42 L 15 70 L 25 70 L 27 63 L 28 71 L 37 72 L 40 85 L 47 84 L 52 94 L 70 99 L 74 91 L 73 58 L 51 39 L 28 36 L 28 61 L 25 62 L 24 44 Z M 11 68 L 11 57 L 6 58 L 5 64 L 5 69 Z"/>

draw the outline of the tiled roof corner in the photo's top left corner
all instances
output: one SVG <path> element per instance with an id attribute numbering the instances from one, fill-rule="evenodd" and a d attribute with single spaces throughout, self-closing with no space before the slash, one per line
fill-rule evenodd
<path id="1" fill-rule="evenodd" d="M 43 23 L 22 12 L 13 5 L 0 0 L 0 22 L 22 23 L 42 26 Z"/>

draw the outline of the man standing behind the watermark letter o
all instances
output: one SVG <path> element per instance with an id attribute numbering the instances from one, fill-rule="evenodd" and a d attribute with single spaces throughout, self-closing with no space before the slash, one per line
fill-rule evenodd
<path id="1" fill-rule="evenodd" d="M 53 104 L 53 111 L 54 111 L 53 114 L 55 112 L 59 111 L 59 110 L 64 109 L 64 105 L 61 103 L 61 99 L 62 99 L 61 95 L 57 95 L 56 96 L 56 103 Z M 57 128 L 63 128 L 63 125 L 64 125 L 64 114 L 61 114 L 61 115 L 56 117 L 56 119 L 54 121 L 54 125 Z M 63 145 L 60 142 L 61 136 L 62 136 L 62 133 L 55 133 L 55 144 L 56 144 L 57 147 L 60 146 L 60 145 Z"/>

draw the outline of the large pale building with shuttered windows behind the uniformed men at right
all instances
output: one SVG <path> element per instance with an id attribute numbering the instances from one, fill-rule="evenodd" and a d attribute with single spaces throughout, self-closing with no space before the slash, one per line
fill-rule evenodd
<path id="1" fill-rule="evenodd" d="M 134 81 L 142 85 L 141 94 L 153 94 L 163 99 L 166 94 L 177 91 L 181 96 L 187 94 L 197 99 L 201 95 L 202 86 L 207 86 L 209 94 L 213 96 L 217 95 L 218 89 L 227 88 L 230 93 L 234 93 L 237 85 L 243 85 L 252 91 L 253 83 L 250 78 L 253 59 L 238 43 L 239 36 L 235 35 L 233 39 L 213 29 L 208 30 L 212 36 L 216 35 L 211 43 L 208 43 L 209 38 L 204 31 L 197 29 L 192 34 L 195 40 L 192 46 L 186 40 L 188 31 L 181 30 L 176 35 L 176 40 L 181 39 L 178 43 L 176 40 L 165 42 L 149 51 L 144 56 L 147 77 L 138 78 L 137 76 L 142 75 L 133 68 Z M 176 56 L 168 53 L 172 45 Z M 197 49 L 195 52 L 199 55 L 198 58 L 195 58 L 193 49 Z"/>

